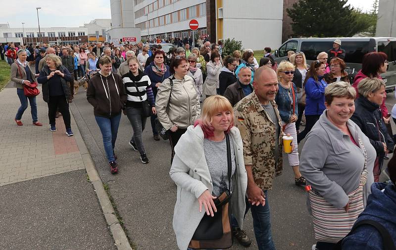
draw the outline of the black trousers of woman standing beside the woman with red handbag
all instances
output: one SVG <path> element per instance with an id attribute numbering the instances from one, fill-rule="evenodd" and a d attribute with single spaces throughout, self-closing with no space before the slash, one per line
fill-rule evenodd
<path id="1" fill-rule="evenodd" d="M 49 124 L 55 125 L 56 110 L 62 114 L 66 129 L 71 129 L 69 103 L 65 96 L 50 96 L 48 102 Z"/>

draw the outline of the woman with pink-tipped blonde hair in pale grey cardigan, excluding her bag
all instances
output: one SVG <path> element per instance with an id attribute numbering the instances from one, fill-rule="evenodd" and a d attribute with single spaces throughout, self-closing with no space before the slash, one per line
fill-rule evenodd
<path id="1" fill-rule="evenodd" d="M 239 226 L 243 226 L 247 174 L 242 138 L 234 127 L 233 117 L 232 106 L 225 97 L 207 98 L 200 120 L 188 127 L 175 147 L 169 174 L 177 185 L 173 229 L 180 250 L 188 249 L 204 214 L 213 216 L 216 212 L 213 200 L 225 190 L 233 191 L 232 213 Z M 231 146 L 231 183 L 228 183 L 226 135 Z"/>

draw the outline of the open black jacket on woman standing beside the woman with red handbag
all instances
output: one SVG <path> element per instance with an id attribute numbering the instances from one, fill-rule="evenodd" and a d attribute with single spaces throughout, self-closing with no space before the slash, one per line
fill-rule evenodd
<path id="1" fill-rule="evenodd" d="M 60 65 L 58 68 L 60 72 L 65 74 L 64 78 L 60 77 L 60 81 L 62 82 L 63 92 L 65 94 L 66 100 L 70 99 L 71 92 L 70 87 L 67 85 L 67 82 L 72 82 L 73 77 L 67 68 L 63 65 Z M 47 65 L 44 66 L 43 70 L 40 71 L 40 76 L 37 78 L 37 82 L 43 84 L 42 92 L 43 92 L 43 100 L 45 102 L 49 102 L 49 80 L 47 80 L 47 76 L 49 76 L 50 70 Z"/>

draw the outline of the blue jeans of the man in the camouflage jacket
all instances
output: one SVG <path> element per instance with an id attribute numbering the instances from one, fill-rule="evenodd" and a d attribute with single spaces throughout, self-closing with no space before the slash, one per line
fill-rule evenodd
<path id="1" fill-rule="evenodd" d="M 265 205 L 252 206 L 246 199 L 246 212 L 250 208 L 253 217 L 254 235 L 258 250 L 275 250 L 271 233 L 271 216 L 269 213 L 268 190 L 263 190 L 265 195 Z M 237 220 L 232 216 L 232 227 L 239 227 Z"/>

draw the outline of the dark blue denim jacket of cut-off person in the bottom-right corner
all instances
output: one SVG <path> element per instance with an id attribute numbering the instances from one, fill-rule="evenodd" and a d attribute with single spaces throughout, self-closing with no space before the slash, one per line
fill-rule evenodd
<path id="1" fill-rule="evenodd" d="M 384 192 L 381 190 L 385 189 Z M 383 225 L 396 243 L 396 187 L 373 183 L 364 211 L 357 221 L 374 220 Z M 380 233 L 372 226 L 362 225 L 343 240 L 343 250 L 384 250 Z"/>

